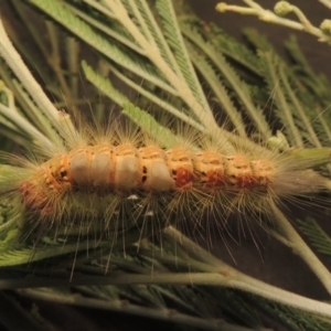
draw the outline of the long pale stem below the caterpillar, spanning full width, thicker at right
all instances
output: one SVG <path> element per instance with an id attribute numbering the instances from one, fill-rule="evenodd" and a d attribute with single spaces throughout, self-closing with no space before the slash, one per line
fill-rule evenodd
<path id="1" fill-rule="evenodd" d="M 331 306 L 329 303 L 316 301 L 280 288 L 270 286 L 260 280 L 246 276 L 228 266 L 225 275 L 224 270 L 218 273 L 162 273 L 152 275 L 120 274 L 109 277 L 73 277 L 68 279 L 19 279 L 0 280 L 1 289 L 38 288 L 38 287 L 66 287 L 66 286 L 88 286 L 90 284 L 102 285 L 203 285 L 222 286 L 235 288 L 243 291 L 261 296 L 268 300 L 274 300 L 293 308 L 302 309 L 318 316 L 331 318 Z"/>

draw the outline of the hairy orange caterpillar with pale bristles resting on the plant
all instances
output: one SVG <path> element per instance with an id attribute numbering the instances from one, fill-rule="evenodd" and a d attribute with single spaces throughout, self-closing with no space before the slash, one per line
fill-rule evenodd
<path id="1" fill-rule="evenodd" d="M 77 141 L 73 135 L 65 150 L 38 163 L 20 160 L 15 180 L 4 179 L 4 190 L 19 197 L 33 229 L 58 231 L 75 222 L 89 226 L 98 220 L 114 235 L 128 226 L 128 214 L 129 226 L 138 218 L 143 226 L 162 218 L 163 226 L 175 220 L 190 229 L 213 215 L 222 228 L 232 213 L 245 211 L 254 218 L 268 213 L 270 202 L 318 192 L 327 183 L 306 169 L 307 160 L 253 142 L 243 147 L 239 139 L 231 153 L 221 135 L 193 135 L 164 148 L 147 134 L 126 136 L 119 125 L 107 130 L 108 138 L 92 132 Z"/>

